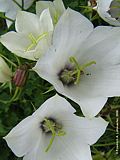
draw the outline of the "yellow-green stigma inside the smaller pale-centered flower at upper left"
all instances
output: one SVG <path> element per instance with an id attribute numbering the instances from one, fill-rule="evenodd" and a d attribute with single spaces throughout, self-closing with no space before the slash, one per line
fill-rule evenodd
<path id="1" fill-rule="evenodd" d="M 31 40 L 31 44 L 25 49 L 25 52 L 30 51 L 33 47 L 36 47 L 40 40 L 48 35 L 48 32 L 44 32 L 43 34 L 39 35 L 37 38 L 30 33 L 28 38 Z"/>

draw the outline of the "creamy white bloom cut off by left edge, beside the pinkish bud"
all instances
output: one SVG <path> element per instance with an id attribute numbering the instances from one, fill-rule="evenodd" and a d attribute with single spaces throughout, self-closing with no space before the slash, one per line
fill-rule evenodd
<path id="1" fill-rule="evenodd" d="M 7 63 L 0 57 L 0 83 L 11 81 L 12 72 Z"/>

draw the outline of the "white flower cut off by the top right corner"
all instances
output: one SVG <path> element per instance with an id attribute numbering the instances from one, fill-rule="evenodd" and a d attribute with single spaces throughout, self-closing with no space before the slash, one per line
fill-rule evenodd
<path id="1" fill-rule="evenodd" d="M 97 12 L 104 21 L 120 26 L 119 0 L 97 0 Z"/>

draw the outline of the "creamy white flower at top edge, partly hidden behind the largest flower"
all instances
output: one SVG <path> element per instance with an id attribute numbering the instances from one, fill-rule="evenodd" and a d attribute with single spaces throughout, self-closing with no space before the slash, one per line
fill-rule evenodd
<path id="1" fill-rule="evenodd" d="M 36 2 L 36 13 L 40 15 L 46 8 L 50 9 L 50 14 L 53 19 L 53 23 L 56 24 L 60 16 L 64 13 L 65 7 L 62 0 L 51 1 L 38 1 Z"/>

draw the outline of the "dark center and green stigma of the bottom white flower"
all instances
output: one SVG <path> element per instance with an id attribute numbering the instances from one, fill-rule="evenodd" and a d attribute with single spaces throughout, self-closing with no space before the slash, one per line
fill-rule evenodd
<path id="1" fill-rule="evenodd" d="M 44 125 L 44 129 L 46 130 L 46 132 L 50 132 L 51 136 L 52 136 L 47 148 L 45 149 L 45 152 L 48 152 L 48 150 L 51 148 L 51 146 L 53 144 L 55 137 L 56 136 L 64 136 L 66 133 L 65 133 L 65 131 L 62 130 L 61 124 L 58 124 L 57 122 L 55 122 L 49 118 L 44 119 L 43 125 Z"/>

